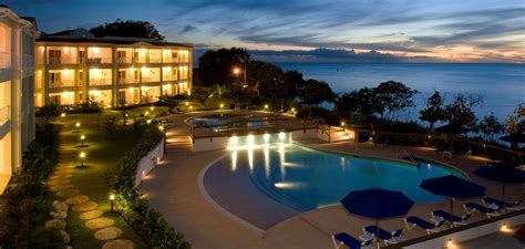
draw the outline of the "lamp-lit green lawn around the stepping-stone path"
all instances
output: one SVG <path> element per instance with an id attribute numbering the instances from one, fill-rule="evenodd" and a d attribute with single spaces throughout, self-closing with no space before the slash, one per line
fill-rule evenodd
<path id="1" fill-rule="evenodd" d="M 104 128 L 104 120 L 110 116 L 122 118 L 117 112 L 104 113 L 101 117 L 101 125 L 96 127 L 97 114 L 71 114 L 65 118 L 61 129 L 61 144 L 64 153 L 80 154 L 84 151 L 86 158 L 84 168 L 76 168 L 73 173 L 72 184 L 80 189 L 80 195 L 86 195 L 91 200 L 99 204 L 99 209 L 104 211 L 105 217 L 115 220 L 116 227 L 123 230 L 122 239 L 133 240 L 138 248 L 147 248 L 141 238 L 130 228 L 130 226 L 117 215 L 110 212 L 109 183 L 116 172 L 116 163 L 127 151 L 130 151 L 138 135 L 133 125 L 125 127 L 117 126 L 112 137 Z M 60 123 L 62 121 L 58 118 Z M 81 122 L 80 133 L 75 133 L 74 124 Z M 131 123 L 131 122 L 128 122 Z M 85 135 L 85 147 L 80 147 L 80 136 Z M 78 159 L 75 165 L 80 165 Z M 70 211 L 68 216 L 68 232 L 70 232 L 73 248 L 87 249 L 101 248 L 104 241 L 94 239 L 96 230 L 91 230 L 84 226 L 85 220 L 79 218 L 80 212 Z"/>

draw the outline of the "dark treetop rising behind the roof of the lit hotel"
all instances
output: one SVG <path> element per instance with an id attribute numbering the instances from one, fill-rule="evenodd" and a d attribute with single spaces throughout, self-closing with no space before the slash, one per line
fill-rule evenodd
<path id="1" fill-rule="evenodd" d="M 106 22 L 103 25 L 97 25 L 90 29 L 90 32 L 95 37 L 126 37 L 126 38 L 146 38 L 155 40 L 164 40 L 155 27 L 148 21 L 123 21 L 116 19 L 114 22 Z"/>

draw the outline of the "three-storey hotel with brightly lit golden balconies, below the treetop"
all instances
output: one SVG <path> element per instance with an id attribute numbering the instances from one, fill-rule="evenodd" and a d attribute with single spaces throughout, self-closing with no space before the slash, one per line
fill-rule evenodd
<path id="1" fill-rule="evenodd" d="M 189 44 L 120 37 L 85 29 L 37 40 L 35 106 L 85 101 L 121 106 L 191 94 Z"/>

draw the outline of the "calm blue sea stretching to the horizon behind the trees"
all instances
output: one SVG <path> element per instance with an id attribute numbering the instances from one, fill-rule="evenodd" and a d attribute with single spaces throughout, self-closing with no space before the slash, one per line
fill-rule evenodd
<path id="1" fill-rule="evenodd" d="M 445 96 L 445 103 L 456 93 L 483 96 L 475 110 L 478 117 L 493 113 L 505 120 L 519 104 L 525 104 L 525 64 L 481 63 L 275 63 L 284 70 L 302 72 L 306 79 L 326 81 L 336 93 L 363 86 L 377 86 L 389 80 L 418 90 L 415 107 L 402 117 L 418 120 L 419 110 L 434 90 Z"/>

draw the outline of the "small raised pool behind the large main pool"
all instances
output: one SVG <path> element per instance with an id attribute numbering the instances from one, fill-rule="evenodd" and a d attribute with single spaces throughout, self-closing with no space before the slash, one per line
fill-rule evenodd
<path id="1" fill-rule="evenodd" d="M 250 118 L 250 122 L 236 123 L 248 121 L 248 118 Z M 214 126 L 214 129 L 220 131 L 227 128 L 260 127 L 262 125 L 262 117 L 243 113 L 224 113 L 193 117 L 188 120 L 188 123 L 194 126 Z"/>

